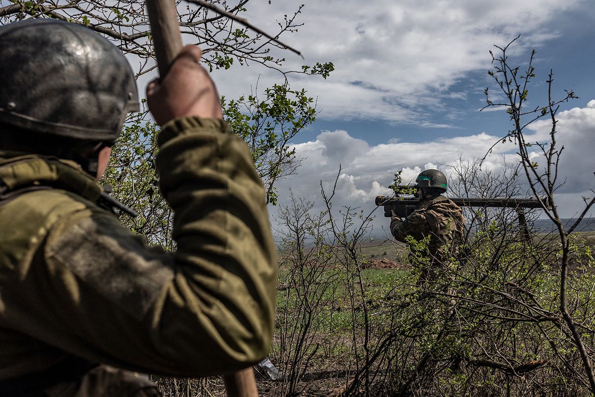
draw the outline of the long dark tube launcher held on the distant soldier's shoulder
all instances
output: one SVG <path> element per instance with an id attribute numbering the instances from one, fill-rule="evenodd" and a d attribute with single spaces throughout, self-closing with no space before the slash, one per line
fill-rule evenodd
<path id="1" fill-rule="evenodd" d="M 522 198 L 461 198 L 461 197 L 450 197 L 459 207 L 500 207 L 500 208 L 515 208 L 516 212 L 519 213 L 519 220 L 524 218 L 523 208 L 542 208 L 541 203 L 538 199 L 522 199 Z M 541 199 L 541 202 L 549 208 L 547 199 Z M 390 217 L 391 212 L 394 211 L 397 216 L 401 218 L 408 217 L 411 212 L 415 211 L 415 208 L 419 204 L 419 199 L 416 196 L 376 196 L 376 205 L 384 206 L 384 216 Z"/>

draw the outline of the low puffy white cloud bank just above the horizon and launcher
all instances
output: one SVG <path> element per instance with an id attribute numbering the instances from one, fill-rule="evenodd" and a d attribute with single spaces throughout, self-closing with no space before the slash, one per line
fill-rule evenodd
<path id="1" fill-rule="evenodd" d="M 558 147 L 564 146 L 560 157 L 560 213 L 572 217 L 583 208 L 582 196 L 592 196 L 588 189 L 595 187 L 595 100 L 584 108 L 573 108 L 558 115 Z M 528 142 L 543 142 L 549 136 L 551 124 L 540 121 L 531 124 Z M 402 170 L 403 183 L 415 180 L 424 169 L 439 168 L 449 174 L 449 165 L 458 164 L 460 158 L 483 158 L 499 137 L 486 133 L 456 136 L 433 142 L 389 142 L 368 145 L 344 130 L 325 131 L 311 142 L 295 145 L 296 154 L 305 159 L 298 174 L 278 185 L 280 205 L 287 202 L 287 192 L 317 202 L 322 208 L 322 188 L 330 192 L 338 176 L 335 205 L 351 208 L 374 209 L 374 197 L 388 195 L 388 186 L 396 171 Z M 543 161 L 537 151 L 531 157 Z M 515 143 L 497 143 L 486 155 L 483 169 L 498 170 L 507 162 L 518 162 Z M 382 217 L 382 214 L 378 214 Z M 380 226 L 381 221 L 377 222 Z"/>

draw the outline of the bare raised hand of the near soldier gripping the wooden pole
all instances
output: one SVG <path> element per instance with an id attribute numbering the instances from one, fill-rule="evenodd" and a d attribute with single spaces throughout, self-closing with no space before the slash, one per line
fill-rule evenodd
<path id="1" fill-rule="evenodd" d="M 177 117 L 223 119 L 217 87 L 200 65 L 202 51 L 185 46 L 162 79 L 147 86 L 149 110 L 159 125 Z"/>

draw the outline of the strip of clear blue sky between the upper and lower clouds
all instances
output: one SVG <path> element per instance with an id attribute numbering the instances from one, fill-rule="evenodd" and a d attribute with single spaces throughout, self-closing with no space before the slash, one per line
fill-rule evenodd
<path id="1" fill-rule="evenodd" d="M 577 12 L 568 12 L 562 21 L 567 21 L 571 16 L 576 17 Z M 595 17 L 595 15 L 593 15 Z M 584 107 L 595 94 L 595 79 L 593 78 L 593 64 L 595 58 L 595 44 L 593 43 L 593 32 L 588 31 L 592 21 L 585 21 L 584 15 L 576 24 L 560 24 L 558 37 L 544 42 L 535 42 L 533 46 L 528 42 L 527 51 L 511 57 L 512 62 L 526 64 L 530 55 L 530 48 L 536 48 L 537 77 L 533 82 L 531 95 L 537 99 L 545 99 L 547 92 L 547 73 L 550 68 L 554 71 L 554 89 L 558 96 L 563 95 L 563 89 L 574 90 L 579 99 L 562 105 L 562 109 L 572 107 Z M 513 36 L 511 36 L 513 38 Z M 525 41 L 521 36 L 519 41 Z M 494 43 L 496 44 L 496 43 Z M 502 43 L 497 43 L 501 45 Z M 496 50 L 493 48 L 494 51 Z M 486 61 L 490 55 L 485 52 Z M 509 122 L 502 112 L 480 112 L 485 105 L 483 89 L 490 86 L 491 90 L 496 89 L 491 77 L 487 75 L 489 65 L 479 70 L 468 71 L 464 76 L 443 90 L 440 95 L 440 109 L 437 111 L 427 109 L 419 111 L 419 120 L 416 123 L 394 123 L 374 118 L 348 118 L 326 117 L 324 108 L 321 109 L 317 123 L 312 125 L 305 133 L 302 133 L 297 141 L 307 142 L 313 140 L 321 130 L 343 129 L 349 131 L 353 137 L 365 139 L 372 145 L 386 143 L 389 139 L 407 139 L 411 142 L 423 142 L 435 139 L 436 137 L 449 137 L 460 135 L 471 135 L 478 131 L 498 135 L 509 128 Z M 449 96 L 450 95 L 450 96 Z M 320 108 L 320 107 L 319 107 Z M 350 116 L 351 117 L 351 116 Z M 431 126 L 434 124 L 435 126 Z M 447 126 L 440 127 L 442 124 Z"/>

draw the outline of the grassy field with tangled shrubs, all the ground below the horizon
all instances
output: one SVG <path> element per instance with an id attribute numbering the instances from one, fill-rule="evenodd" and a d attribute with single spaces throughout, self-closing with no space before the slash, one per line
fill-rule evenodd
<path id="1" fill-rule="evenodd" d="M 560 320 L 558 238 L 487 237 L 473 236 L 469 257 L 433 286 L 419 285 L 400 243 L 281 252 L 270 352 L 281 377 L 255 367 L 260 395 L 587 397 Z M 574 237 L 567 294 L 592 349 L 595 233 Z M 224 395 L 220 378 L 192 385 L 190 395 Z"/>

